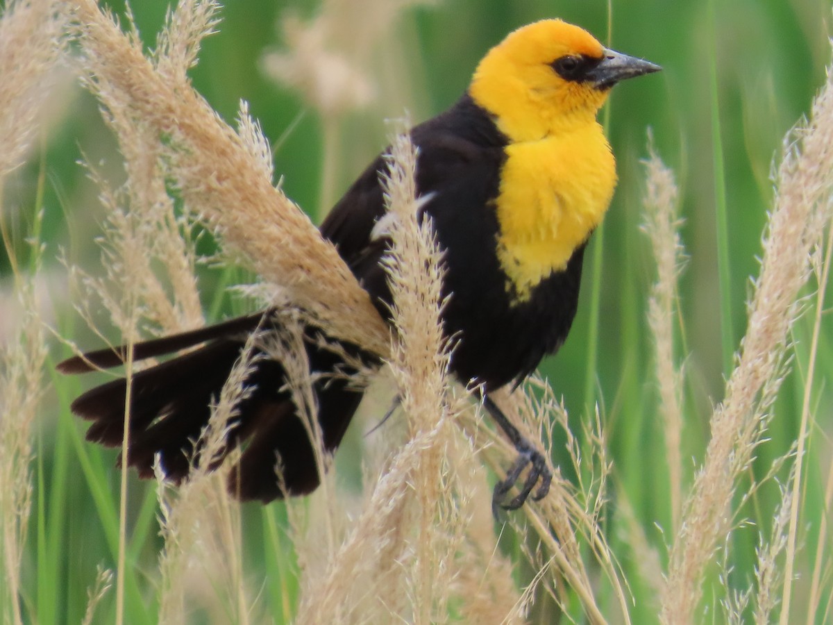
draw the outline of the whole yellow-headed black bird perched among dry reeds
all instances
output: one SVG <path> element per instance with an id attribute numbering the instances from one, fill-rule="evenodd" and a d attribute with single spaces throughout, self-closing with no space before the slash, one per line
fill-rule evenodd
<path id="1" fill-rule="evenodd" d="M 459 100 L 410 131 L 418 151 L 420 211 L 430 217 L 442 252 L 441 323 L 455 343 L 450 370 L 476 388 L 518 453 L 495 485 L 495 511 L 545 497 L 552 474 L 491 393 L 521 383 L 564 343 L 576 316 L 585 248 L 617 182 L 597 112 L 616 83 L 660 69 L 604 47 L 583 28 L 544 19 L 510 32 L 486 52 Z M 320 232 L 390 321 L 390 240 L 380 228 L 386 216 L 380 177 L 386 172 L 382 153 L 332 207 Z M 279 331 L 282 319 L 270 308 L 136 343 L 134 361 L 171 358 L 132 375 L 127 458 L 119 463 L 152 478 L 158 458 L 167 479 L 186 479 L 198 462 L 195 446 L 212 403 L 247 338 Z M 317 332 L 306 328 L 306 355 L 311 371 L 322 374 L 313 378 L 312 390 L 323 451 L 335 453 L 362 400 L 362 387 L 348 378 L 357 363 L 378 368 L 382 361 L 361 345 L 340 342 L 340 353 L 324 348 Z M 287 391 L 287 371 L 266 354 L 258 356 L 221 453 L 241 452 L 228 489 L 242 501 L 262 502 L 311 493 L 322 476 Z M 104 348 L 57 368 L 86 373 L 117 367 L 126 357 L 126 346 Z M 327 375 L 334 371 L 340 375 Z M 83 393 L 70 408 L 92 422 L 87 440 L 118 447 L 126 401 L 127 380 L 116 378 Z M 519 492 L 512 498 L 513 488 Z"/>

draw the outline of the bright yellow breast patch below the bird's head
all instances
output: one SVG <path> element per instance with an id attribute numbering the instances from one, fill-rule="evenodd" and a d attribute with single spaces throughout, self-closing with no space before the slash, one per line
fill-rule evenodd
<path id="1" fill-rule="evenodd" d="M 537 141 L 510 143 L 496 201 L 498 258 L 516 302 L 601 223 L 616 187 L 616 163 L 598 123 Z"/>

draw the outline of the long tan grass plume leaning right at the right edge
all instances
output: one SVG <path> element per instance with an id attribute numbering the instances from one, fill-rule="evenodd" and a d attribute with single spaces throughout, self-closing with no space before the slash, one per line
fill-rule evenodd
<path id="1" fill-rule="evenodd" d="M 806 125 L 787 138 L 777 173 L 761 272 L 749 304 L 746 336 L 726 396 L 711 416 L 711 440 L 683 506 L 671 560 L 661 620 L 696 620 L 701 581 L 717 541 L 731 527 L 731 499 L 739 474 L 749 466 L 766 427 L 768 411 L 784 374 L 786 341 L 808 277 L 811 250 L 829 219 L 826 196 L 833 173 L 833 74 L 813 102 Z M 782 618 L 789 612 L 785 592 Z"/>

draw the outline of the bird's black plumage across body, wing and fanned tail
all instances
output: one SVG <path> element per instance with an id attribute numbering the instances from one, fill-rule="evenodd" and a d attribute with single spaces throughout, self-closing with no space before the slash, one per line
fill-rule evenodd
<path id="1" fill-rule="evenodd" d="M 446 336 L 456 338 L 452 371 L 462 383 L 480 383 L 486 392 L 520 381 L 566 338 L 576 313 L 584 246 L 565 271 L 551 274 L 525 302 L 513 303 L 514 293 L 507 288 L 496 254 L 494 203 L 506 138 L 466 95 L 449 111 L 413 128 L 412 140 L 419 148 L 418 193 L 433 194 L 424 210 L 445 252 L 444 291 L 451 297 L 443 323 Z M 380 263 L 387 241 L 373 240 L 371 233 L 385 210 L 379 173 L 386 167 L 383 158 L 377 158 L 321 226 L 322 235 L 335 244 L 383 316 L 391 297 Z M 141 359 L 202 345 L 133 377 L 128 465 L 150 477 L 154 454 L 161 453 L 170 478 L 180 481 L 187 476 L 195 455 L 193 441 L 205 427 L 212 398 L 219 395 L 247 333 L 259 324 L 274 323 L 272 319 L 257 313 L 136 346 L 134 358 Z M 345 347 L 361 354 L 356 346 Z M 307 354 L 316 372 L 344 366 L 333 353 L 312 343 Z M 362 355 L 367 362 L 377 362 Z M 102 350 L 87 354 L 87 359 L 97 367 L 112 367 L 121 363 L 121 354 Z M 67 360 L 59 368 L 65 373 L 91 370 L 82 358 Z M 279 391 L 284 378 L 280 363 L 258 363 L 248 381 L 257 388 L 240 405 L 229 435 L 229 448 L 244 448 L 229 486 L 242 499 L 267 502 L 282 496 L 274 471 L 277 456 L 289 494 L 308 493 L 320 482 L 307 432 L 291 398 Z M 361 390 L 338 379 L 319 381 L 314 390 L 324 445 L 332 451 L 361 401 Z M 94 422 L 87 432 L 89 440 L 118 446 L 124 401 L 125 381 L 115 380 L 77 398 L 72 411 Z"/>

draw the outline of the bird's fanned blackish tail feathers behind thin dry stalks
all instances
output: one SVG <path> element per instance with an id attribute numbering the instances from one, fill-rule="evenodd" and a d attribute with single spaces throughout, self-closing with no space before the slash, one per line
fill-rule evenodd
<path id="1" fill-rule="evenodd" d="M 136 467 L 142 478 L 150 478 L 158 454 L 167 478 L 179 483 L 187 477 L 199 463 L 200 450 L 195 444 L 207 426 L 211 405 L 240 358 L 246 333 L 261 326 L 262 321 L 263 314 L 258 313 L 134 346 L 133 358 L 137 360 L 182 348 L 194 349 L 132 376 L 127 466 Z M 343 347 L 372 362 L 355 346 Z M 124 353 L 123 348 L 100 350 L 64 361 L 58 369 L 62 373 L 83 373 L 109 368 L 122 363 Z M 307 357 L 314 372 L 347 368 L 336 354 L 312 343 L 307 344 Z M 345 373 L 351 372 L 348 369 Z M 237 404 L 238 414 L 230 424 L 226 448 L 221 458 L 215 458 L 222 460 L 232 449 L 242 449 L 228 483 L 229 491 L 242 500 L 272 501 L 282 498 L 284 489 L 292 495 L 309 493 L 321 481 L 307 428 L 297 415 L 285 383 L 281 363 L 268 358 L 255 360 L 246 381 L 250 392 Z M 329 453 L 341 443 L 362 391 L 349 386 L 345 379 L 327 376 L 315 378 L 312 390 L 323 448 Z M 87 391 L 72 403 L 73 413 L 92 421 L 88 440 L 108 447 L 122 444 L 126 397 L 127 381 L 121 378 Z"/>

